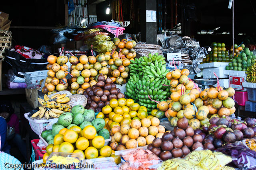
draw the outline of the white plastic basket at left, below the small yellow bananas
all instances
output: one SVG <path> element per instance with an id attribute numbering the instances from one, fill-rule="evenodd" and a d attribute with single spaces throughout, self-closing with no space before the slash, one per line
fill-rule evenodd
<path id="1" fill-rule="evenodd" d="M 44 130 L 52 129 L 52 125 L 58 121 L 58 118 L 53 118 L 49 120 L 30 119 L 28 115 L 29 113 L 24 114 L 26 119 L 28 119 L 32 131 L 34 131 L 37 135 L 41 135 L 42 131 Z"/>

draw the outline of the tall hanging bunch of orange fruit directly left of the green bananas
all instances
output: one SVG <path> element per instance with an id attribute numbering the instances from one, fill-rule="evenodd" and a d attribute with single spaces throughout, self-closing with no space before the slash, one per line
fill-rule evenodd
<path id="1" fill-rule="evenodd" d="M 135 41 L 127 41 L 126 39 L 114 38 L 114 44 L 112 46 L 112 59 L 108 61 L 110 65 L 109 76 L 112 81 L 116 84 L 126 83 L 126 78 L 128 78 L 130 71 L 129 65 L 131 61 L 134 61 L 136 57 L 136 52 L 133 47 L 135 47 Z"/>

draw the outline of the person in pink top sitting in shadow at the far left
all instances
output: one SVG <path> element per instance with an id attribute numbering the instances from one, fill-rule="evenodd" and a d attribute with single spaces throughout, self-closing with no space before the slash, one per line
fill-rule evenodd
<path id="1" fill-rule="evenodd" d="M 7 122 L 8 128 L 13 127 L 15 130 L 15 134 L 12 135 L 11 137 L 8 137 L 9 138 L 8 143 L 12 145 L 16 145 L 19 148 L 20 152 L 22 153 L 22 156 L 26 160 L 26 156 L 27 156 L 26 144 L 24 141 L 22 141 L 20 136 L 19 119 L 17 115 L 14 114 L 14 109 L 12 108 L 12 104 L 9 101 L 0 102 L 0 116 L 4 117 L 4 119 Z"/>

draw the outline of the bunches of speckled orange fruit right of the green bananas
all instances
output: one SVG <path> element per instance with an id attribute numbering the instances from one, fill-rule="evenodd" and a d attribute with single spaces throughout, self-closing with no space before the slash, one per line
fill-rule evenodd
<path id="1" fill-rule="evenodd" d="M 170 100 L 160 102 L 160 109 L 165 111 L 171 125 L 177 125 L 178 119 L 186 117 L 189 126 L 193 129 L 209 123 L 209 118 L 229 116 L 236 111 L 233 88 L 224 90 L 222 87 L 207 88 L 201 90 L 196 88 L 194 82 L 188 79 L 189 70 L 173 70 L 166 75 L 170 82 Z"/>

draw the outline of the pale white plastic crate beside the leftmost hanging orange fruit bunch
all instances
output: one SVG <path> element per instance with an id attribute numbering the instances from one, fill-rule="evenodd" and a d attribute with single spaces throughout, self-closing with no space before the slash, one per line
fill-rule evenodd
<path id="1" fill-rule="evenodd" d="M 27 84 L 39 84 L 40 80 L 47 77 L 48 70 L 25 72 Z"/>

